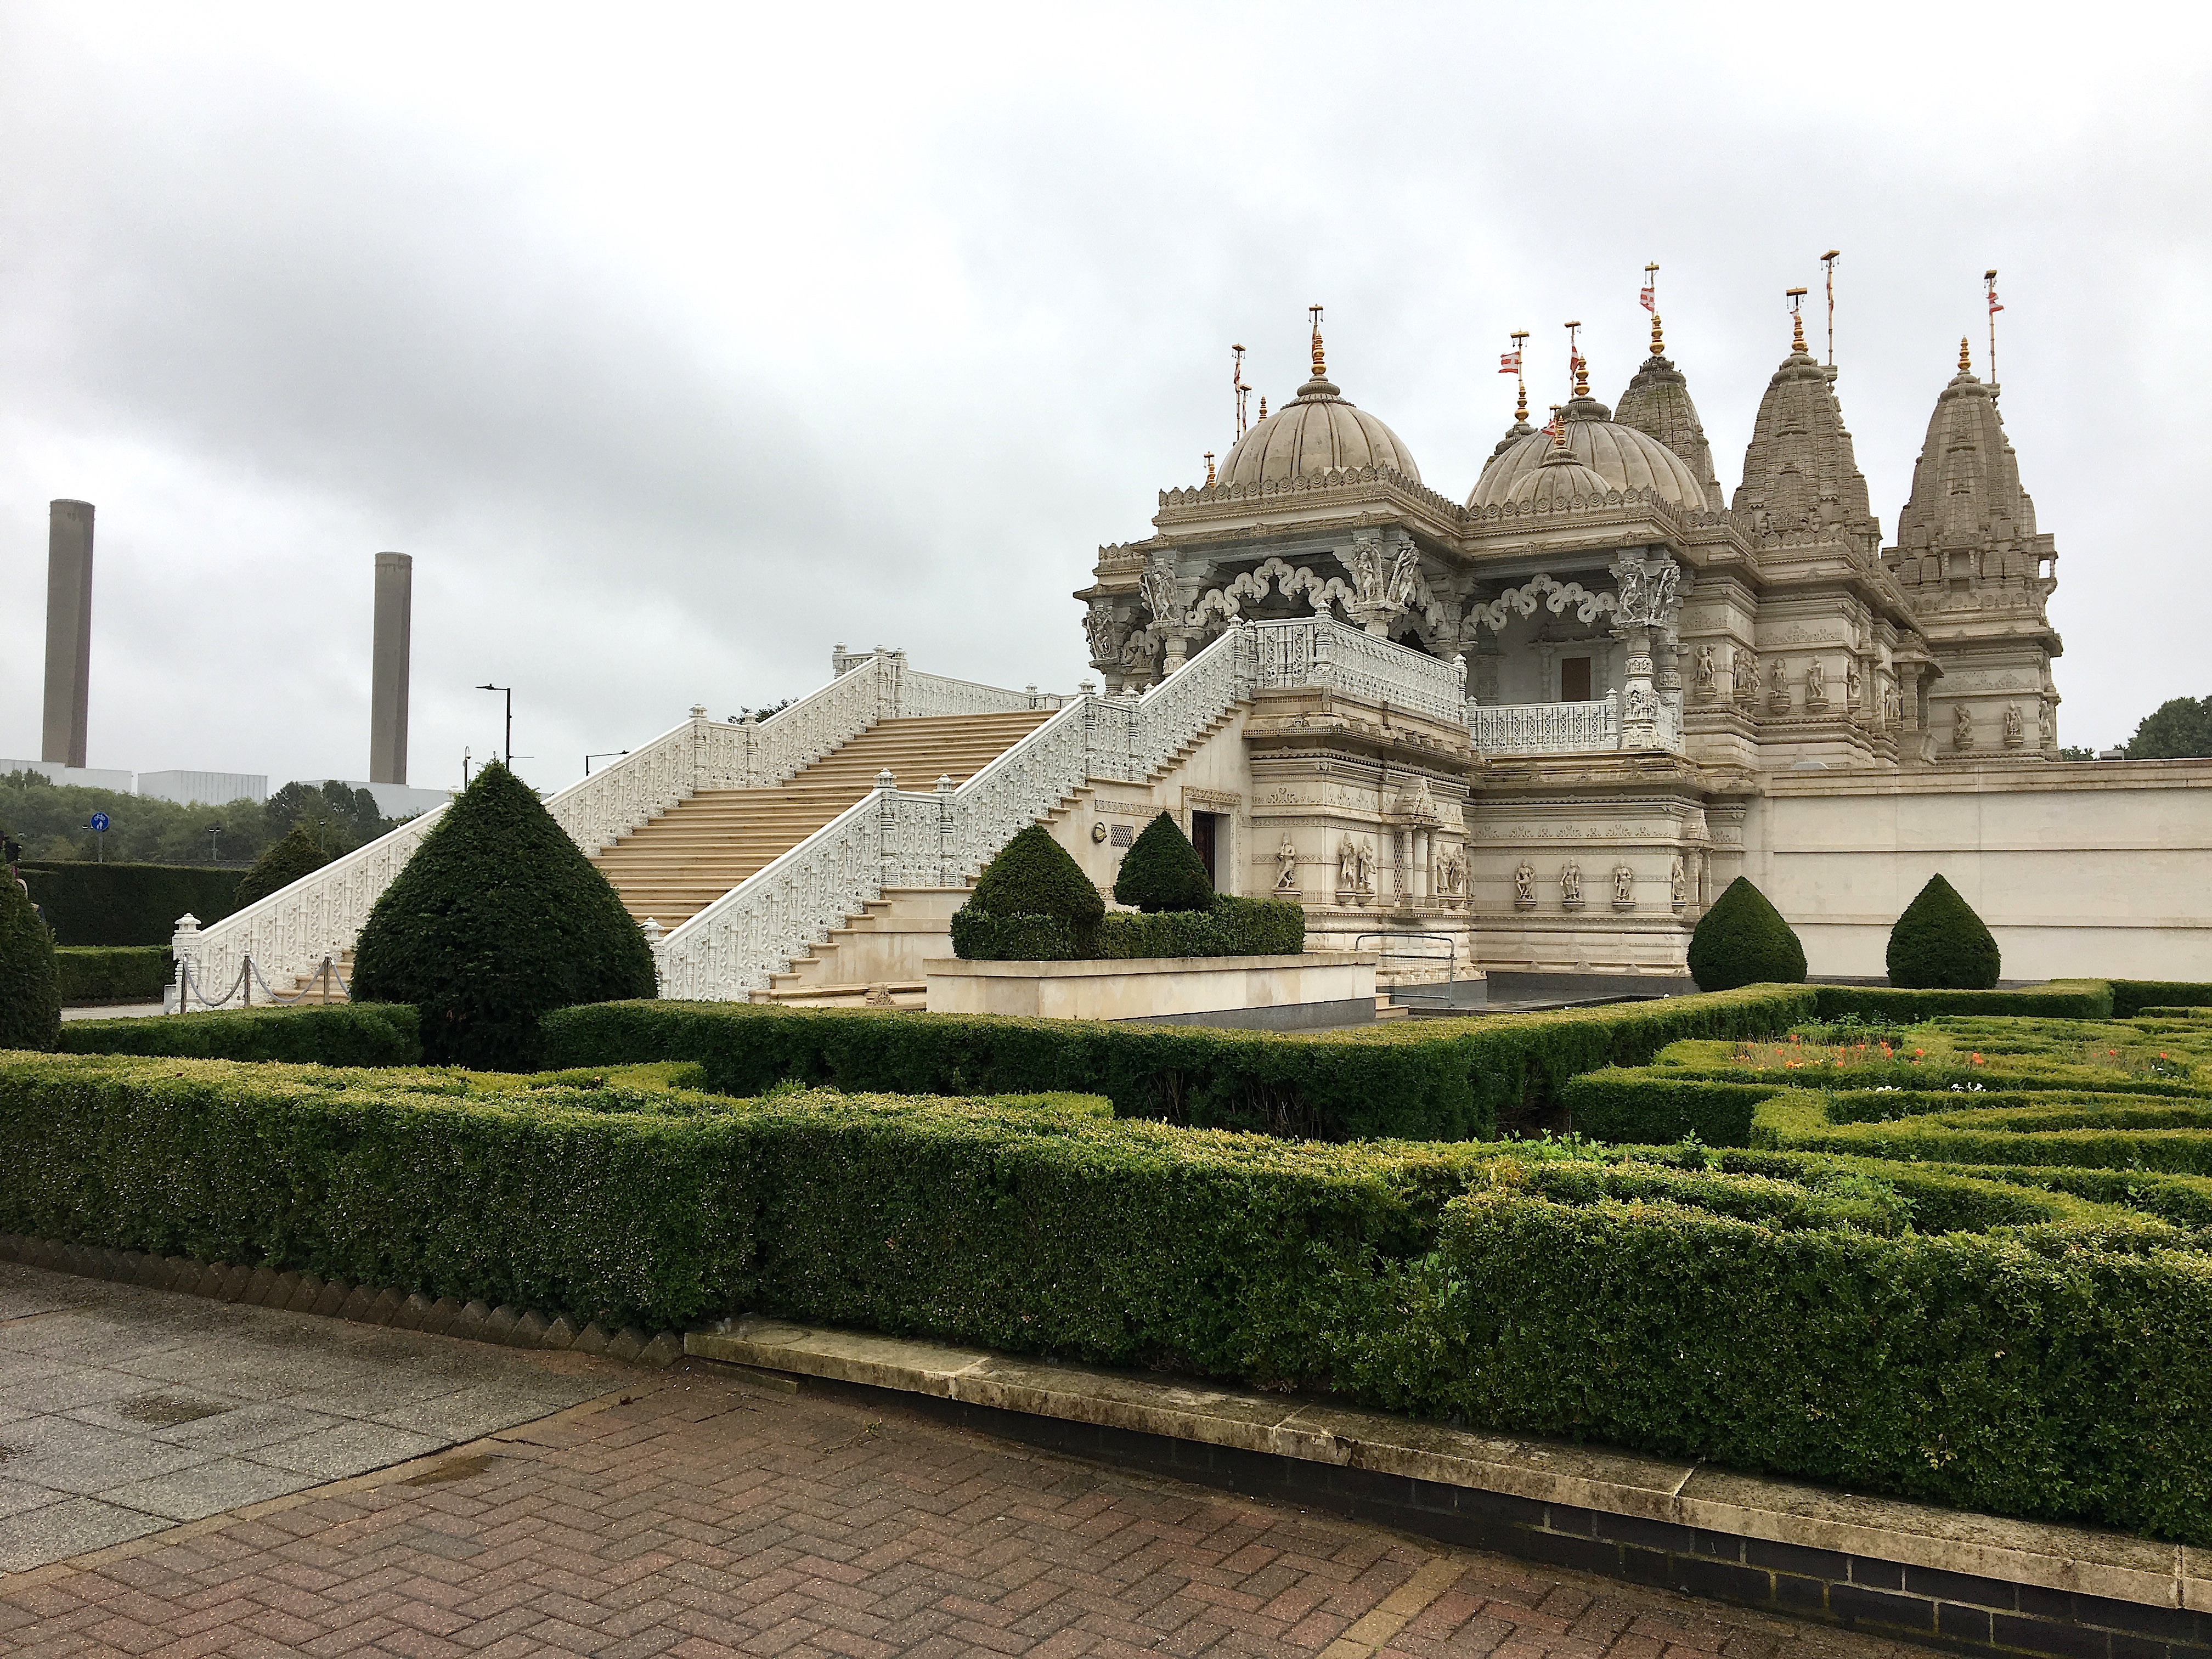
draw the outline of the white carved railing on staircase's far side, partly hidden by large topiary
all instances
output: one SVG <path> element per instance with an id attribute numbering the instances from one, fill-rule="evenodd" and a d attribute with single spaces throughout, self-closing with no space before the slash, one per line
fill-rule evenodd
<path id="1" fill-rule="evenodd" d="M 703 708 L 692 708 L 681 726 L 571 783 L 546 801 L 546 812 L 577 847 L 597 854 L 701 790 L 785 783 L 878 719 L 1055 708 L 1060 701 L 1051 692 L 916 675 L 898 650 L 847 655 L 836 679 L 763 721 L 714 721 Z M 343 953 L 442 812 L 434 807 L 199 929 L 190 938 L 192 973 L 228 984 L 252 956 L 254 967 L 272 978 L 299 975 L 325 956 Z"/>

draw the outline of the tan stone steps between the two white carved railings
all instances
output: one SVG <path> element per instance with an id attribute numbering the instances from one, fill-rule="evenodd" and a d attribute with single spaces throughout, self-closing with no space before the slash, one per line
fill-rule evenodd
<path id="1" fill-rule="evenodd" d="M 964 783 L 1046 719 L 1051 710 L 876 721 L 790 783 L 703 790 L 593 863 L 615 883 L 630 916 L 639 922 L 650 916 L 675 931 L 874 790 L 878 772 L 896 776 L 902 790 L 931 790 L 940 776 Z"/>

